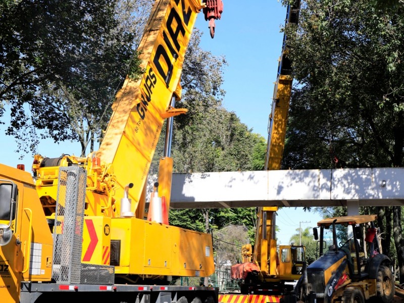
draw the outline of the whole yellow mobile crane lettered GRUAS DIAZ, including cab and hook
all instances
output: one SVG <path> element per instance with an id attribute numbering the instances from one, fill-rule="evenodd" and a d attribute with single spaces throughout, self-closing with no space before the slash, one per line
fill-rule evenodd
<path id="1" fill-rule="evenodd" d="M 212 287 L 171 286 L 214 273 L 211 235 L 145 220 L 145 187 L 165 119 L 175 109 L 189 38 L 203 10 L 214 34 L 221 1 L 156 0 L 140 51 L 142 78 L 126 78 L 102 143 L 86 158 L 34 157 L 29 173 L 0 165 L 2 302 L 102 299 L 217 302 Z M 170 120 L 167 123 L 170 128 Z M 168 129 L 167 134 L 171 130 Z M 167 140 L 166 140 L 167 141 Z M 166 148 L 154 196 L 170 204 Z M 63 293 L 63 294 L 62 294 Z"/>

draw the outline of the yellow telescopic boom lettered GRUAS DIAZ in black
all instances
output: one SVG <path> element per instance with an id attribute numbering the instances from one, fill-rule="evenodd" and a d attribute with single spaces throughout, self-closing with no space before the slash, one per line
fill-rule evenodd
<path id="1" fill-rule="evenodd" d="M 163 116 L 167 117 L 171 98 L 180 87 L 186 47 L 201 9 L 200 3 L 195 4 L 184 0 L 156 1 L 138 47 L 140 67 L 145 72 L 138 81 L 126 78 L 96 153 L 96 157 L 113 166 L 118 183 L 113 195 L 116 201 L 123 196 L 126 184 L 134 184 L 130 197 L 135 209 L 159 140 Z"/>

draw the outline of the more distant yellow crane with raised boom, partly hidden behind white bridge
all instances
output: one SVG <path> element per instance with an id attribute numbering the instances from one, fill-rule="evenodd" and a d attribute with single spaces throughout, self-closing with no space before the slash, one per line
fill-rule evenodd
<path id="1" fill-rule="evenodd" d="M 299 0 L 287 6 L 285 25 L 297 24 L 299 9 Z M 291 87 L 291 64 L 287 57 L 287 39 L 284 34 L 268 122 L 265 170 L 279 170 L 281 167 Z M 243 263 L 232 266 L 232 278 L 241 280 L 240 288 L 243 294 L 258 291 L 281 295 L 283 289 L 290 288 L 286 283 L 298 279 L 301 275 L 305 262 L 305 248 L 300 245 L 281 245 L 279 252 L 277 251 L 275 237 L 277 210 L 277 207 L 258 209 L 254 251 L 251 244 L 243 245 L 241 249 Z M 263 285 L 270 290 L 263 291 Z"/>

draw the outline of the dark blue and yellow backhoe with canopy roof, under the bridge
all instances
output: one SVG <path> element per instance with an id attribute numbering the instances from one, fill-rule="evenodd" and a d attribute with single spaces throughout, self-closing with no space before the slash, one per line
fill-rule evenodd
<path id="1" fill-rule="evenodd" d="M 390 259 L 382 254 L 379 230 L 373 223 L 376 218 L 362 215 L 319 221 L 314 237 L 319 240 L 320 257 L 307 267 L 294 293 L 284 301 L 364 303 L 376 298 L 391 302 L 394 278 Z"/>

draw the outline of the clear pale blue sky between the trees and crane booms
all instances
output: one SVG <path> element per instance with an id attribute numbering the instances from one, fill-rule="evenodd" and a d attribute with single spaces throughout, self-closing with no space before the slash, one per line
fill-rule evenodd
<path id="1" fill-rule="evenodd" d="M 224 0 L 222 18 L 215 22 L 214 39 L 210 37 L 208 22 L 202 13 L 196 21 L 196 27 L 204 31 L 201 47 L 214 55 L 224 55 L 229 64 L 224 74 L 226 96 L 223 106 L 235 112 L 242 123 L 264 138 L 268 135 L 268 116 L 282 50 L 283 33 L 280 28 L 285 23 L 285 16 L 286 8 L 277 0 Z M 5 120 L 3 117 L 2 121 Z M 5 127 L 0 126 L 2 163 L 13 167 L 23 163 L 25 170 L 30 171 L 31 155 L 19 160 L 21 155 L 15 153 L 17 144 L 4 134 L 4 130 Z M 56 144 L 52 140 L 44 140 L 37 146 L 36 153 L 56 158 L 62 153 L 80 155 L 80 150 L 78 143 Z M 302 228 L 306 228 L 316 226 L 320 219 L 318 215 L 305 213 L 300 208 L 280 210 L 278 243 L 288 244 L 290 236 L 297 233 L 300 221 L 311 221 L 301 224 Z"/>

